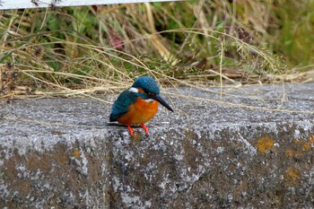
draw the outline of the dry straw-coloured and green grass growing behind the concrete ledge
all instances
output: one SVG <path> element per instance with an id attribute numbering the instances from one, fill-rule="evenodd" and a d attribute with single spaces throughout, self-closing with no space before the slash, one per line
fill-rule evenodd
<path id="1" fill-rule="evenodd" d="M 144 74 L 196 87 L 314 78 L 313 0 L 58 2 L 0 11 L 0 98 L 92 96 Z"/>

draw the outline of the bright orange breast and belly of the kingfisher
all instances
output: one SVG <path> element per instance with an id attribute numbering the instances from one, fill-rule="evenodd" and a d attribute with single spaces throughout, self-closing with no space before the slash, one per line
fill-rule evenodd
<path id="1" fill-rule="evenodd" d="M 127 113 L 118 118 L 118 123 L 127 125 L 139 125 L 150 121 L 157 113 L 158 101 L 145 101 L 138 97 L 136 102 L 131 104 Z"/>

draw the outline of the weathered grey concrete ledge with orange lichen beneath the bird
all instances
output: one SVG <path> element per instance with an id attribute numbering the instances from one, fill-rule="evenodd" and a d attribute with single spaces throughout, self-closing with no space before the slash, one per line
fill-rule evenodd
<path id="1" fill-rule="evenodd" d="M 0 208 L 313 207 L 313 90 L 278 85 L 222 96 L 286 109 L 270 111 L 179 89 L 204 99 L 172 97 L 175 113 L 160 109 L 151 135 L 136 129 L 135 139 L 107 125 L 110 105 L 97 100 L 2 102 Z"/>

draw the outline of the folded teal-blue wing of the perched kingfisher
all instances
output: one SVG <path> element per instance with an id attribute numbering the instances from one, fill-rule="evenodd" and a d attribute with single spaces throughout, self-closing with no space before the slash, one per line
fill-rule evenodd
<path id="1" fill-rule="evenodd" d="M 112 110 L 109 118 L 110 122 L 117 121 L 118 118 L 126 114 L 130 105 L 135 101 L 135 93 L 128 90 L 123 91 L 112 105 Z"/>

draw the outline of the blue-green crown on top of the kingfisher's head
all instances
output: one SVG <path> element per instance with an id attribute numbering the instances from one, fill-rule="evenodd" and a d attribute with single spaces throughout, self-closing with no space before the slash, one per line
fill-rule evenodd
<path id="1" fill-rule="evenodd" d="M 158 84 L 150 76 L 137 78 L 132 87 L 141 88 L 146 94 L 158 95 L 160 93 Z"/>

